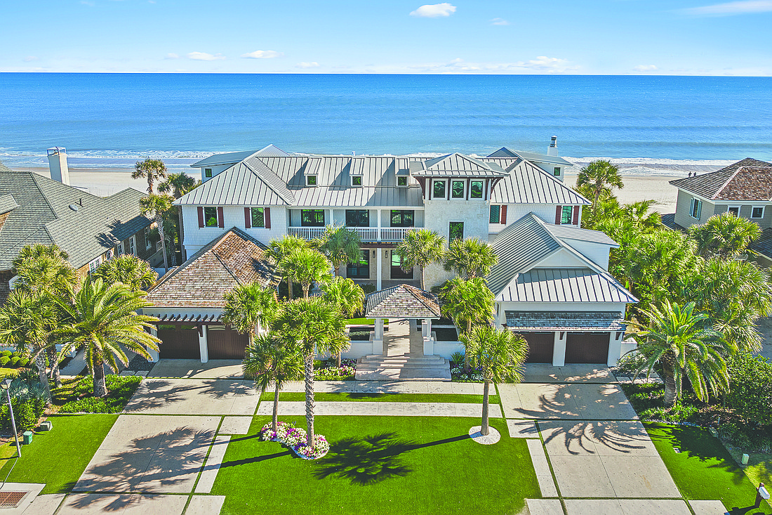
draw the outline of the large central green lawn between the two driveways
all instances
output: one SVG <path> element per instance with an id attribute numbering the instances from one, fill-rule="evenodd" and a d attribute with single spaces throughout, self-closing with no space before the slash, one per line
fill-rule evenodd
<path id="1" fill-rule="evenodd" d="M 283 417 L 304 427 L 303 417 Z M 255 417 L 249 435 L 232 438 L 212 494 L 222 513 L 519 513 L 539 498 L 525 440 L 502 435 L 479 445 L 468 435 L 478 418 L 316 418 L 330 453 L 296 458 L 256 435 L 269 417 Z"/>

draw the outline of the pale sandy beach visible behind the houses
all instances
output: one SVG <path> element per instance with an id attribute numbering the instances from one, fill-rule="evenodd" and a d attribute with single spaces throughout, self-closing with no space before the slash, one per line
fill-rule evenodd
<path id="1" fill-rule="evenodd" d="M 44 168 L 27 169 L 49 177 L 49 170 Z M 131 169 L 70 169 L 69 182 L 72 186 L 83 188 L 88 193 L 97 196 L 108 196 L 121 189 L 134 188 L 144 191 L 147 182 L 141 179 L 131 179 Z M 198 170 L 192 170 L 191 176 L 198 179 Z M 637 202 L 638 200 L 654 200 L 654 209 L 659 213 L 675 212 L 676 189 L 669 185 L 676 176 L 633 176 L 623 175 L 625 188 L 616 192 L 621 203 Z M 576 176 L 567 175 L 566 184 L 574 186 Z"/>

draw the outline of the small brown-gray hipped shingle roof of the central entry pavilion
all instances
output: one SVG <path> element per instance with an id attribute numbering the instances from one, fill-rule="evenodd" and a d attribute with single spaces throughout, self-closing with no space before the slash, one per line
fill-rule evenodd
<path id="1" fill-rule="evenodd" d="M 436 295 L 411 285 L 373 292 L 367 295 L 364 304 L 367 318 L 435 319 L 442 314 Z"/>

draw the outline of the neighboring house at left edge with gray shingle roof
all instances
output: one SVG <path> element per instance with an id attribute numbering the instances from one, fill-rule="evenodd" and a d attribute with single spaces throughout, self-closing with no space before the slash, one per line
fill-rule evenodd
<path id="1" fill-rule="evenodd" d="M 116 254 L 157 262 L 161 250 L 136 189 L 107 197 L 40 176 L 0 168 L 0 303 L 10 292 L 13 259 L 25 245 L 56 244 L 80 276 Z"/>

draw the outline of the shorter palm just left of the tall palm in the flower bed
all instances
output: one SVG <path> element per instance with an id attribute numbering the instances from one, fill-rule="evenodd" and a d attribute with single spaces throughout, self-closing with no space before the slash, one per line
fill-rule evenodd
<path id="1" fill-rule="evenodd" d="M 276 431 L 279 423 L 279 391 L 289 380 L 303 372 L 303 356 L 296 342 L 279 339 L 272 333 L 257 336 L 244 352 L 242 370 L 245 377 L 252 377 L 260 393 L 273 383 L 273 423 Z"/>

